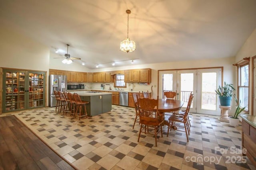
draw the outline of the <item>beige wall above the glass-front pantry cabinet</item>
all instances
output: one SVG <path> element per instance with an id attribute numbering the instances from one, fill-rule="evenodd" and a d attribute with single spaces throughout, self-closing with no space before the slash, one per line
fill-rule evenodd
<path id="1" fill-rule="evenodd" d="M 49 48 L 4 26 L 0 27 L 0 67 L 49 70 Z"/>

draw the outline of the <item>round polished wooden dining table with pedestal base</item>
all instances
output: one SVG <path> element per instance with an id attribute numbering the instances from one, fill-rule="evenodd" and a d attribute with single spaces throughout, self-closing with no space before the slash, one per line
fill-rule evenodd
<path id="1" fill-rule="evenodd" d="M 164 112 L 170 112 L 170 111 L 179 111 L 183 106 L 183 104 L 184 102 L 181 100 L 158 99 L 159 114 L 164 114 Z M 164 125 L 169 126 L 169 122 L 165 120 Z"/>

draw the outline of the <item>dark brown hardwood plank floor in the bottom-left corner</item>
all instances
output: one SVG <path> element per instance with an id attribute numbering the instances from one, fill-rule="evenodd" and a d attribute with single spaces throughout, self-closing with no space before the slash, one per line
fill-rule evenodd
<path id="1" fill-rule="evenodd" d="M 0 170 L 71 170 L 14 115 L 0 117 Z"/>

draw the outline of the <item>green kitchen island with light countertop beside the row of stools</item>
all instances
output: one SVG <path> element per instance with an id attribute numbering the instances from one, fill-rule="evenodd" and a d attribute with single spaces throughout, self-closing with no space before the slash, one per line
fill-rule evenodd
<path id="1" fill-rule="evenodd" d="M 89 104 L 86 104 L 86 111 L 89 116 L 107 113 L 112 109 L 112 93 L 86 90 L 68 92 L 77 93 L 81 100 L 89 102 Z"/>

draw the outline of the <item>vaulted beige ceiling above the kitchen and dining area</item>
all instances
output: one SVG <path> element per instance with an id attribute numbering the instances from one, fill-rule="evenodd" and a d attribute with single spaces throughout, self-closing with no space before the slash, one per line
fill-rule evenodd
<path id="1" fill-rule="evenodd" d="M 256 0 L 3 0 L 1 24 L 88 68 L 235 56 L 256 28 Z M 119 50 L 127 37 L 133 53 Z M 60 60 L 62 58 L 56 59 Z"/>

